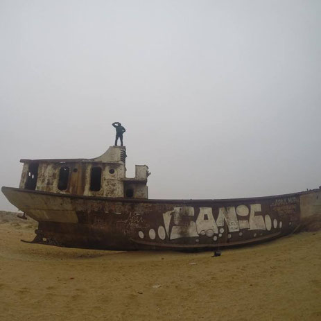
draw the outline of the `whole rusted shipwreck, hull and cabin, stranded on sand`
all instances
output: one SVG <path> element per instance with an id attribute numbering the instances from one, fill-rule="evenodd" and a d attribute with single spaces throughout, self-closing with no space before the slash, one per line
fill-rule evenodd
<path id="1" fill-rule="evenodd" d="M 259 198 L 148 200 L 148 166 L 125 177 L 125 147 L 94 159 L 21 159 L 6 198 L 39 222 L 35 243 L 106 250 L 193 250 L 257 243 L 321 215 L 321 189 Z"/>

